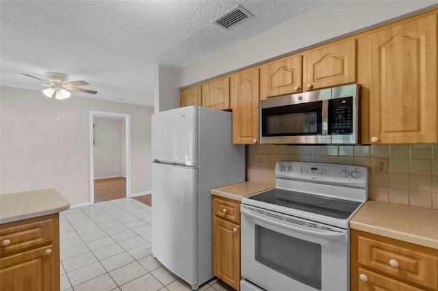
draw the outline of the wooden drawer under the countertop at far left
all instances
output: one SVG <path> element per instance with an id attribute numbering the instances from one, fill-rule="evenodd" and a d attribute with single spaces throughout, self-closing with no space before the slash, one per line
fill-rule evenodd
<path id="1" fill-rule="evenodd" d="M 2 258 L 18 251 L 53 242 L 53 219 L 31 223 L 27 220 L 22 222 L 1 225 L 0 255 Z"/>

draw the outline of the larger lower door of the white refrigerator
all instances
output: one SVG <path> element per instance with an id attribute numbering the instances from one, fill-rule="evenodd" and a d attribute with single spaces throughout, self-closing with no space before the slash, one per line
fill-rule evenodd
<path id="1" fill-rule="evenodd" d="M 198 169 L 152 164 L 152 253 L 183 280 L 198 283 Z"/>

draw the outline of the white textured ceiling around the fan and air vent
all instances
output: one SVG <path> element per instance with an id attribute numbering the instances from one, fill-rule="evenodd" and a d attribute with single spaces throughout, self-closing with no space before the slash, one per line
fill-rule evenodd
<path id="1" fill-rule="evenodd" d="M 62 72 L 99 92 L 73 96 L 153 106 L 155 64 L 179 68 L 324 2 L 1 0 L 1 85 L 40 90 L 20 73 Z M 229 31 L 210 23 L 237 4 L 255 17 Z"/>

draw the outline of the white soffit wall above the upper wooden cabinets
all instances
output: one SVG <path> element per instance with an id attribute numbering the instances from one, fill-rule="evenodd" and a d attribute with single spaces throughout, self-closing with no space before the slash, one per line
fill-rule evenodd
<path id="1" fill-rule="evenodd" d="M 180 68 L 175 87 L 186 87 L 240 70 L 434 4 L 437 4 L 436 0 L 329 1 Z M 164 79 L 159 81 L 166 82 Z"/>

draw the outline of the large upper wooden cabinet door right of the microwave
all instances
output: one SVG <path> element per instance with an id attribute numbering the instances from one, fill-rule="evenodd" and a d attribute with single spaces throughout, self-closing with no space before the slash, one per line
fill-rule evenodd
<path id="1" fill-rule="evenodd" d="M 370 137 L 436 143 L 437 15 L 370 33 Z"/>

